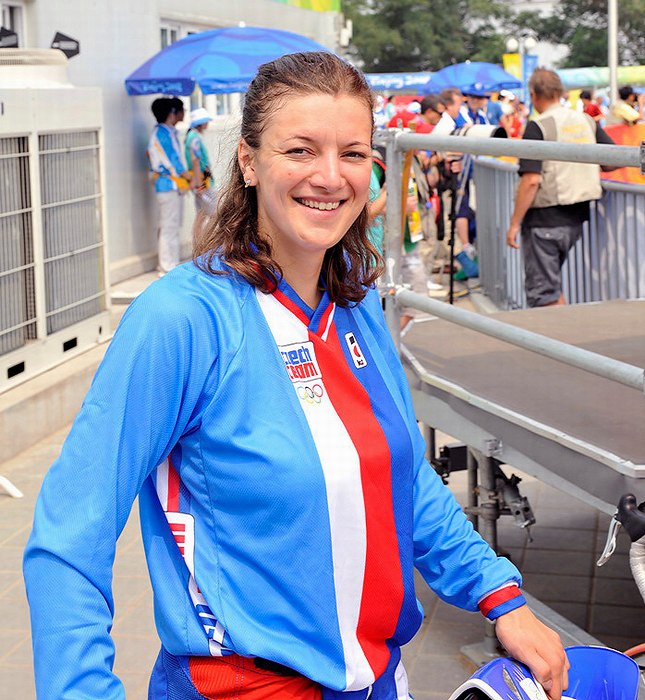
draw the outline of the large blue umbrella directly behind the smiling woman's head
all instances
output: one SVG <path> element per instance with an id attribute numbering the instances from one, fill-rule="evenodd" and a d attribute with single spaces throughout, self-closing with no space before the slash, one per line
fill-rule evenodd
<path id="1" fill-rule="evenodd" d="M 244 92 L 262 63 L 298 51 L 328 51 L 300 34 L 263 27 L 226 27 L 190 34 L 126 78 L 129 95 Z"/>

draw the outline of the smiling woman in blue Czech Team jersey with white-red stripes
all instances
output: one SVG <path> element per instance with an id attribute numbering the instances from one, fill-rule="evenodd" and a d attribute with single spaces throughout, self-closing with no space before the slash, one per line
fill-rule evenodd
<path id="1" fill-rule="evenodd" d="M 217 218 L 128 308 L 43 483 L 24 557 L 39 698 L 124 697 L 111 570 L 139 496 L 151 700 L 407 700 L 414 567 L 497 619 L 559 700 L 558 636 L 424 459 L 373 288 L 372 120 L 331 53 L 260 67 Z"/>

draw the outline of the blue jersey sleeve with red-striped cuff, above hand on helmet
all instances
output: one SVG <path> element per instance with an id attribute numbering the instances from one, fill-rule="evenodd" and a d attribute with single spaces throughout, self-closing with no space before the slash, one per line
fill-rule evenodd
<path id="1" fill-rule="evenodd" d="M 373 313 L 376 315 L 376 307 Z M 382 313 L 380 316 L 383 318 Z M 382 327 L 380 345 L 385 348 L 387 363 L 395 374 L 413 441 L 414 564 L 442 600 L 476 611 L 491 593 L 509 584 L 517 590 L 522 582 L 521 575 L 508 559 L 498 557 L 476 532 L 450 489 L 425 459 L 426 446 L 417 426 L 409 384 L 384 320 Z M 513 604 L 523 604 L 524 599 L 508 603 L 505 608 L 497 606 L 506 600 L 490 599 L 488 602 L 490 611 L 482 609 L 482 612 L 490 617 L 488 612 L 493 615 L 510 612 Z"/>

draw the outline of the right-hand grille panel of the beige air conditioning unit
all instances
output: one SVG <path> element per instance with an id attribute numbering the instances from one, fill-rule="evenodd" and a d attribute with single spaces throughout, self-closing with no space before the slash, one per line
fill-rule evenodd
<path id="1" fill-rule="evenodd" d="M 47 333 L 105 309 L 97 131 L 38 137 Z"/>

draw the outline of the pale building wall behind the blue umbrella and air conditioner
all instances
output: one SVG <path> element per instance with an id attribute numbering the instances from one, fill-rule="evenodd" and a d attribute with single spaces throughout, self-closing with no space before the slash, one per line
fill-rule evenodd
<path id="1" fill-rule="evenodd" d="M 218 26 L 268 26 L 295 31 L 333 48 L 337 13 L 290 7 L 272 0 L 33 0 L 24 5 L 25 48 L 48 48 L 57 31 L 80 41 L 69 61 L 69 79 L 103 91 L 107 239 L 110 273 L 118 282 L 156 264 L 156 211 L 145 150 L 154 119 L 154 97 L 129 97 L 124 80 L 160 46 L 161 22 L 192 31 Z M 214 136 L 229 129 L 220 120 Z M 192 201 L 186 201 L 185 230 Z M 189 234 L 188 234 L 189 235 Z"/>

